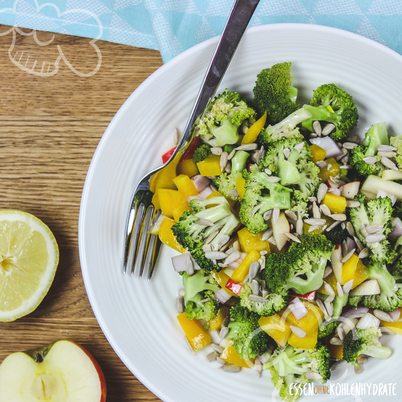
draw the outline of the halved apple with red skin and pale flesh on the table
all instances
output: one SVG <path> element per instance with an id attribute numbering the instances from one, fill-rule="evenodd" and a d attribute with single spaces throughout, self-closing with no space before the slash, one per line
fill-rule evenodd
<path id="1" fill-rule="evenodd" d="M 12 353 L 0 365 L 2 402 L 105 402 L 102 370 L 82 346 L 57 341 Z"/>

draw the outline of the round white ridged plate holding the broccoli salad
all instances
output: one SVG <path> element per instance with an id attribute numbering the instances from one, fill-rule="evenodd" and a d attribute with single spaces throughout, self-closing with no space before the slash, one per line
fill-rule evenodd
<path id="1" fill-rule="evenodd" d="M 161 155 L 173 146 L 174 128 L 183 130 L 217 41 L 208 40 L 169 61 L 127 99 L 99 142 L 81 200 L 79 253 L 92 309 L 126 366 L 165 402 L 222 398 L 266 402 L 273 390 L 268 372 L 262 378 L 246 369 L 229 374 L 217 370 L 218 363 L 207 363 L 206 351 L 191 355 L 173 307 L 181 285 L 170 262 L 174 251 L 162 247 L 151 282 L 121 273 L 131 195 L 143 174 L 160 165 Z M 402 57 L 334 28 L 302 24 L 250 28 L 221 89 L 238 90 L 251 98 L 256 74 L 282 61 L 292 62 L 300 103 L 307 102 L 317 86 L 334 82 L 353 95 L 360 114 L 359 134 L 381 121 L 387 122 L 392 135 L 402 127 Z M 396 336 L 384 338 L 391 346 L 400 342 Z M 402 348 L 393 349 L 390 359 L 371 359 L 359 376 L 349 365 L 347 381 L 397 382 Z M 336 398 L 314 395 L 315 402 Z M 393 398 L 397 396 L 388 396 Z"/>

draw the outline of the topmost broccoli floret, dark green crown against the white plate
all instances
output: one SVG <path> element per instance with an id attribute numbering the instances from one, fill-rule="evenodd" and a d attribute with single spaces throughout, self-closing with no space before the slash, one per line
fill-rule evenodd
<path id="1" fill-rule="evenodd" d="M 259 116 L 267 112 L 267 121 L 276 124 L 297 109 L 297 88 L 292 86 L 292 63 L 278 63 L 257 74 L 253 105 Z"/>

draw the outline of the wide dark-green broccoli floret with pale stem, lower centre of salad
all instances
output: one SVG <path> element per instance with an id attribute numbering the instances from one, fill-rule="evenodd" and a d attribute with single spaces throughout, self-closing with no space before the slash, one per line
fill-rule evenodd
<path id="1" fill-rule="evenodd" d="M 291 288 L 305 294 L 323 284 L 334 245 L 324 235 L 307 234 L 299 240 L 300 243 L 292 243 L 287 251 L 266 257 L 262 278 L 274 293 L 283 294 Z"/>

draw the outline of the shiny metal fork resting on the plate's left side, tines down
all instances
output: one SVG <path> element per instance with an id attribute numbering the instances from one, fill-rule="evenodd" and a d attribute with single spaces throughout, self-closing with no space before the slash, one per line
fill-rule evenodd
<path id="1" fill-rule="evenodd" d="M 149 232 L 156 213 L 149 180 L 168 165 L 178 152 L 184 153 L 190 145 L 195 134 L 195 121 L 203 115 L 213 99 L 258 3 L 259 0 L 235 1 L 176 150 L 164 165 L 147 173 L 134 191 L 125 232 L 123 274 L 127 267 L 131 267 L 133 276 L 136 265 L 139 265 L 139 277 L 142 277 L 144 268 L 147 268 L 148 280 L 151 279 L 161 243 L 158 236 Z"/>

